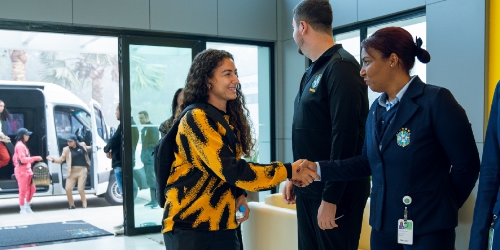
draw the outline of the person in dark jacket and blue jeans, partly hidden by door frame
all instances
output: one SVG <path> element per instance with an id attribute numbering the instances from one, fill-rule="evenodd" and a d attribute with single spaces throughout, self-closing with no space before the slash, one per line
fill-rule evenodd
<path id="1" fill-rule="evenodd" d="M 116 119 L 120 119 L 120 103 L 116 105 Z M 114 170 L 114 177 L 116 183 L 118 184 L 118 190 L 120 195 L 123 195 L 123 178 L 121 176 L 121 126 L 118 124 L 116 131 L 113 136 L 109 138 L 106 146 L 104 146 L 104 152 L 106 156 L 111 159 L 111 167 Z M 123 222 L 121 224 L 113 226 L 117 229 L 116 234 L 123 234 Z"/>

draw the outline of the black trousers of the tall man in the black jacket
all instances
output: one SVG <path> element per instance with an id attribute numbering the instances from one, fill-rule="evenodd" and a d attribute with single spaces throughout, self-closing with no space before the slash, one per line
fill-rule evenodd
<path id="1" fill-rule="evenodd" d="M 321 230 L 317 211 L 321 199 L 297 195 L 297 226 L 299 250 L 357 250 L 366 198 L 342 199 L 337 205 L 338 227 Z"/>

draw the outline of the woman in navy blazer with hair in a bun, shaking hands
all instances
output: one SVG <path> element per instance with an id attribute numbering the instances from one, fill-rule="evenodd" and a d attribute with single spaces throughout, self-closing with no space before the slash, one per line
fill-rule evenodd
<path id="1" fill-rule="evenodd" d="M 410 33 L 386 27 L 361 42 L 361 76 L 382 92 L 368 112 L 362 153 L 319 161 L 321 181 L 372 176 L 371 249 L 449 249 L 458 208 L 474 187 L 479 155 L 465 110 L 449 90 L 410 76 L 430 60 Z M 316 169 L 316 163 L 303 166 Z M 399 219 L 413 221 L 412 244 L 398 243 Z"/>

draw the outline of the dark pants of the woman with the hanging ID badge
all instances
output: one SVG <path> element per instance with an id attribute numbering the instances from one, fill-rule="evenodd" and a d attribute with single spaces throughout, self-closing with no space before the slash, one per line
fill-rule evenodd
<path id="1" fill-rule="evenodd" d="M 396 224 L 394 223 L 394 226 Z M 413 244 L 397 243 L 397 233 L 385 234 L 371 229 L 371 250 L 453 250 L 455 229 L 445 229 L 423 235 L 413 235 Z"/>

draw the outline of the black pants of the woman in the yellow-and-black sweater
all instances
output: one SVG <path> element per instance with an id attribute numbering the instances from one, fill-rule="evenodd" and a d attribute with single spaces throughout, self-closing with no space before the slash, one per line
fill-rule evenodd
<path id="1" fill-rule="evenodd" d="M 163 233 L 166 250 L 239 250 L 236 229 L 182 230 Z"/>

